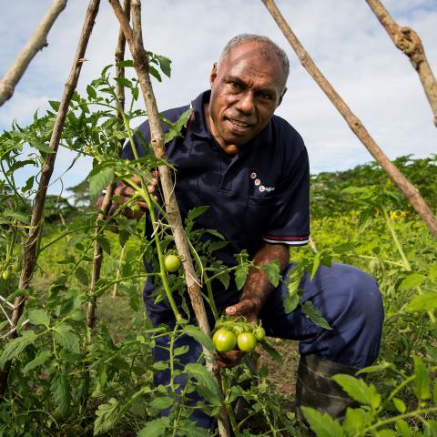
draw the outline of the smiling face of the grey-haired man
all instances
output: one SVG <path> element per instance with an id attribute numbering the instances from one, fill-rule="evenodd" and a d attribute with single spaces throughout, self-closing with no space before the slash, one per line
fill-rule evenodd
<path id="1" fill-rule="evenodd" d="M 237 46 L 211 72 L 208 125 L 229 155 L 268 125 L 285 92 L 278 56 L 261 54 L 261 47 L 253 41 Z"/>

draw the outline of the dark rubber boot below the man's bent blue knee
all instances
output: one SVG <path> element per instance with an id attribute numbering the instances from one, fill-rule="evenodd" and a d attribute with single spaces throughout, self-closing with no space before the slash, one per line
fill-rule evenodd
<path id="1" fill-rule="evenodd" d="M 343 419 L 348 407 L 356 406 L 349 395 L 330 377 L 338 373 L 354 375 L 357 369 L 338 362 L 323 360 L 317 355 L 300 356 L 296 381 L 296 416 L 305 422 L 300 407 L 311 407 Z"/>

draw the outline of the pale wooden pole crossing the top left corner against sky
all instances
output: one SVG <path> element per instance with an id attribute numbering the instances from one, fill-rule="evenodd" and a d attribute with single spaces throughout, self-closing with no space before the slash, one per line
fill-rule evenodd
<path id="1" fill-rule="evenodd" d="M 35 32 L 30 36 L 29 41 L 23 50 L 16 57 L 13 65 L 0 80 L 0 107 L 14 94 L 15 86 L 25 74 L 27 66 L 31 63 L 36 54 L 48 46 L 47 34 L 55 23 L 56 18 L 66 8 L 66 0 L 54 0 L 48 8 L 41 23 L 36 27 Z"/>

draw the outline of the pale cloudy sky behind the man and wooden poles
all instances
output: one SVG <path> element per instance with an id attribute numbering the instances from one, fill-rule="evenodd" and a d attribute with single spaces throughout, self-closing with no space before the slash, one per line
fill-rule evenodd
<path id="1" fill-rule="evenodd" d="M 0 76 L 36 28 L 51 0 L 0 0 Z M 121 2 L 122 3 L 122 2 Z M 320 90 L 282 36 L 260 0 L 147 0 L 142 2 L 143 39 L 147 50 L 172 60 L 171 79 L 154 81 L 158 109 L 186 105 L 209 87 L 213 63 L 232 36 L 269 36 L 290 57 L 288 91 L 277 109 L 303 137 L 312 174 L 340 171 L 372 160 L 344 119 Z M 48 100 L 60 100 L 69 75 L 88 2 L 70 0 L 39 52 L 0 107 L 0 132 L 31 122 Z M 277 0 L 301 44 L 336 88 L 352 112 L 389 158 L 437 153 L 437 129 L 422 84 L 409 59 L 391 42 L 364 0 Z M 433 71 L 437 70 L 437 2 L 385 0 L 400 25 L 422 39 Z M 78 83 L 79 93 L 114 62 L 118 25 L 102 0 Z M 66 174 L 73 156 L 61 149 L 49 192 L 72 187 L 86 178 L 89 159 L 80 159 Z M 25 176 L 20 178 L 25 180 Z M 62 184 L 60 182 L 62 178 Z M 66 194 L 66 193 L 65 193 Z"/>

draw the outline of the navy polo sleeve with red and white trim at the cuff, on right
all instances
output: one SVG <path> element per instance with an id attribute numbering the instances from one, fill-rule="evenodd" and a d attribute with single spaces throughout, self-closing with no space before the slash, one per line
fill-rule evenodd
<path id="1" fill-rule="evenodd" d="M 301 138 L 300 142 L 299 154 L 291 159 L 269 208 L 262 236 L 268 243 L 303 246 L 310 239 L 310 164 Z"/>

